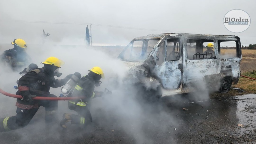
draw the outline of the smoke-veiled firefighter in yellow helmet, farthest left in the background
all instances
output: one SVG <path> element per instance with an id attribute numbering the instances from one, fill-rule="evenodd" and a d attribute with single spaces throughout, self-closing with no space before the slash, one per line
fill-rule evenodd
<path id="1" fill-rule="evenodd" d="M 20 70 L 20 68 L 26 66 L 31 60 L 26 53 L 27 44 L 20 38 L 14 39 L 11 44 L 14 45 L 14 47 L 4 51 L 4 53 L 0 55 L 0 59 L 10 65 L 13 70 Z"/>

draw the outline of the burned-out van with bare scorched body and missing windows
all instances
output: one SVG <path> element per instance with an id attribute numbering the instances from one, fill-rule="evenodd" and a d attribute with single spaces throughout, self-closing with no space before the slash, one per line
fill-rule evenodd
<path id="1" fill-rule="evenodd" d="M 132 39 L 118 56 L 129 67 L 127 82 L 154 97 L 206 88 L 226 93 L 240 77 L 238 36 L 186 33 Z"/>

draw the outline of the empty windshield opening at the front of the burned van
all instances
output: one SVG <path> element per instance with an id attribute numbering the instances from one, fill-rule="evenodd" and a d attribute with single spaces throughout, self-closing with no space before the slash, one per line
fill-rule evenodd
<path id="1" fill-rule="evenodd" d="M 143 62 L 160 39 L 132 40 L 119 55 L 123 61 Z"/>

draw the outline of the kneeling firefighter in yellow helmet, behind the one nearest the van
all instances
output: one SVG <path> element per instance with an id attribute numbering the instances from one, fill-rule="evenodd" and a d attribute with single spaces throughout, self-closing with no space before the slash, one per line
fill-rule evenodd
<path id="1" fill-rule="evenodd" d="M 0 119 L 0 132 L 10 131 L 25 127 L 40 106 L 45 108 L 45 122 L 53 124 L 56 122 L 55 113 L 58 108 L 57 100 L 33 100 L 36 96 L 57 97 L 50 94 L 50 87 L 57 88 L 63 86 L 72 74 L 64 79 L 57 80 L 54 76 L 60 76 L 59 68 L 63 64 L 56 57 L 49 57 L 44 62 L 43 68 L 38 68 L 28 72 L 20 77 L 18 82 L 18 91 L 23 99 L 17 99 L 16 116 L 10 116 Z"/>

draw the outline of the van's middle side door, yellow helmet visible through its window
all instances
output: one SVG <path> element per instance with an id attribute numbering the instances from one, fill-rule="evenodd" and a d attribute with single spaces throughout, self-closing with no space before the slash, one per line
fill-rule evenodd
<path id="1" fill-rule="evenodd" d="M 186 39 L 184 64 L 184 85 L 182 92 L 191 92 L 197 89 L 208 90 L 216 85 L 218 79 L 217 58 L 218 48 L 214 39 Z M 211 84 L 210 84 L 211 83 Z"/>

